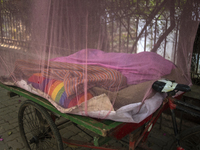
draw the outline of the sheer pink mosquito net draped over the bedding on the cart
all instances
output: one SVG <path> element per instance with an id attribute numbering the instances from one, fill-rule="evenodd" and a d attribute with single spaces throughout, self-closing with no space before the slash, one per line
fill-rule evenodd
<path id="1" fill-rule="evenodd" d="M 140 122 L 191 85 L 199 0 L 1 0 L 0 81 L 62 113 Z"/>

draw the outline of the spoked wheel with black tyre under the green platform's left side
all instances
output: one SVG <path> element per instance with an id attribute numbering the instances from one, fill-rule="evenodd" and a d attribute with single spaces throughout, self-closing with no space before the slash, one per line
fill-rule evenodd
<path id="1" fill-rule="evenodd" d="M 19 130 L 25 147 L 31 150 L 63 150 L 60 133 L 49 113 L 27 100 L 19 108 Z"/>

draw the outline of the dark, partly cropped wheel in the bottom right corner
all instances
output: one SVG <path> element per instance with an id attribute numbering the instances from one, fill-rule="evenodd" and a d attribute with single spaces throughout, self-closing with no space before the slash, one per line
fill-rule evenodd
<path id="1" fill-rule="evenodd" d="M 200 150 L 200 126 L 189 128 L 180 134 L 180 145 L 185 150 Z M 168 150 L 177 150 L 177 142 L 168 144 Z"/>

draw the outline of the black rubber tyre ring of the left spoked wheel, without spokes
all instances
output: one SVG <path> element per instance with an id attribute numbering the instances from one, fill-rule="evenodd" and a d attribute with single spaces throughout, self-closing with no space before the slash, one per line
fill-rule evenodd
<path id="1" fill-rule="evenodd" d="M 21 138 L 22 138 L 22 141 L 23 141 L 25 147 L 27 149 L 30 149 L 30 146 L 28 144 L 27 138 L 25 136 L 24 125 L 23 125 L 23 116 L 24 116 L 25 108 L 30 106 L 30 105 L 33 106 L 34 108 L 36 108 L 45 117 L 45 120 L 49 124 L 49 126 L 51 128 L 51 131 L 53 132 L 54 138 L 57 141 L 58 150 L 64 150 L 60 132 L 58 131 L 58 129 L 57 129 L 54 121 L 50 117 L 49 113 L 47 112 L 47 110 L 44 107 L 40 106 L 39 104 L 37 104 L 37 103 L 35 103 L 35 102 L 31 101 L 31 100 L 24 101 L 21 104 L 21 106 L 19 108 L 19 111 L 18 111 L 19 131 L 20 131 L 20 135 L 21 135 Z"/>

